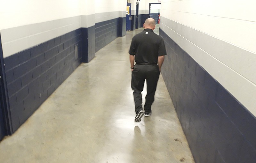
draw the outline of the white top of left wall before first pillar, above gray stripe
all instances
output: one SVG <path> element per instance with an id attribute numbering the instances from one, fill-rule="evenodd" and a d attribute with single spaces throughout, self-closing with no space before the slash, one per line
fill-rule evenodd
<path id="1" fill-rule="evenodd" d="M 82 0 L 0 0 L 0 30 L 81 15 Z"/>

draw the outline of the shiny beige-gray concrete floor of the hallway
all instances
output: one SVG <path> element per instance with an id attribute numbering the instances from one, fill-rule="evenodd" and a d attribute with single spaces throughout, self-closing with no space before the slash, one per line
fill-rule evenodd
<path id="1" fill-rule="evenodd" d="M 142 30 L 127 32 L 82 63 L 0 142 L 0 162 L 194 163 L 161 75 L 152 115 L 134 122 L 128 50 Z"/>

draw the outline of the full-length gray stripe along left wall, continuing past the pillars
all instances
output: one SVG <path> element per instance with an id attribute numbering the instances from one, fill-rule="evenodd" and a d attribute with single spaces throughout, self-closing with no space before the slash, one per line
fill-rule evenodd
<path id="1" fill-rule="evenodd" d="M 126 17 L 126 11 L 96 13 L 1 30 L 4 57 L 51 40 L 78 28 L 88 28 L 95 23 Z"/>

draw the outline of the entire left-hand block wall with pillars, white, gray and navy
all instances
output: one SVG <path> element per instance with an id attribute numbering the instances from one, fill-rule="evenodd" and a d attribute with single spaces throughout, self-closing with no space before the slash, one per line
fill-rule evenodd
<path id="1" fill-rule="evenodd" d="M 108 1 L 112 6 L 107 9 L 105 4 L 95 3 L 91 0 L 77 3 L 15 0 L 0 6 L 0 18 L 6 22 L 0 24 L 0 39 L 7 89 L 4 109 L 10 112 L 10 134 L 81 62 L 89 62 L 95 57 L 95 50 L 103 47 L 99 41 L 105 46 L 116 37 L 125 35 L 126 2 Z M 58 10 L 54 6 L 59 6 Z M 110 16 L 102 19 L 103 9 L 106 9 L 103 14 Z M 19 19 L 17 15 L 25 19 Z M 100 31 L 99 26 L 103 27 Z M 110 28 L 115 30 L 108 30 Z M 100 39 L 96 39 L 95 30 L 101 33 Z"/>

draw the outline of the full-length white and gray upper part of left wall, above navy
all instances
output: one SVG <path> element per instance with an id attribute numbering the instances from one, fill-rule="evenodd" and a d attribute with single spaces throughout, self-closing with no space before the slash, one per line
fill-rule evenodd
<path id="1" fill-rule="evenodd" d="M 97 21 L 125 16 L 125 0 L 0 0 L 4 57 Z"/>

